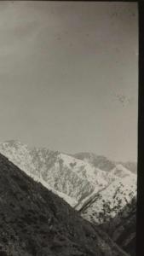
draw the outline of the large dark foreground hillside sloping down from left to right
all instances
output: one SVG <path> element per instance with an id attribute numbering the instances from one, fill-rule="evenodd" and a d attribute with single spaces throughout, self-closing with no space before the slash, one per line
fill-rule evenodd
<path id="1" fill-rule="evenodd" d="M 1 256 L 126 256 L 103 231 L 0 154 Z"/>

